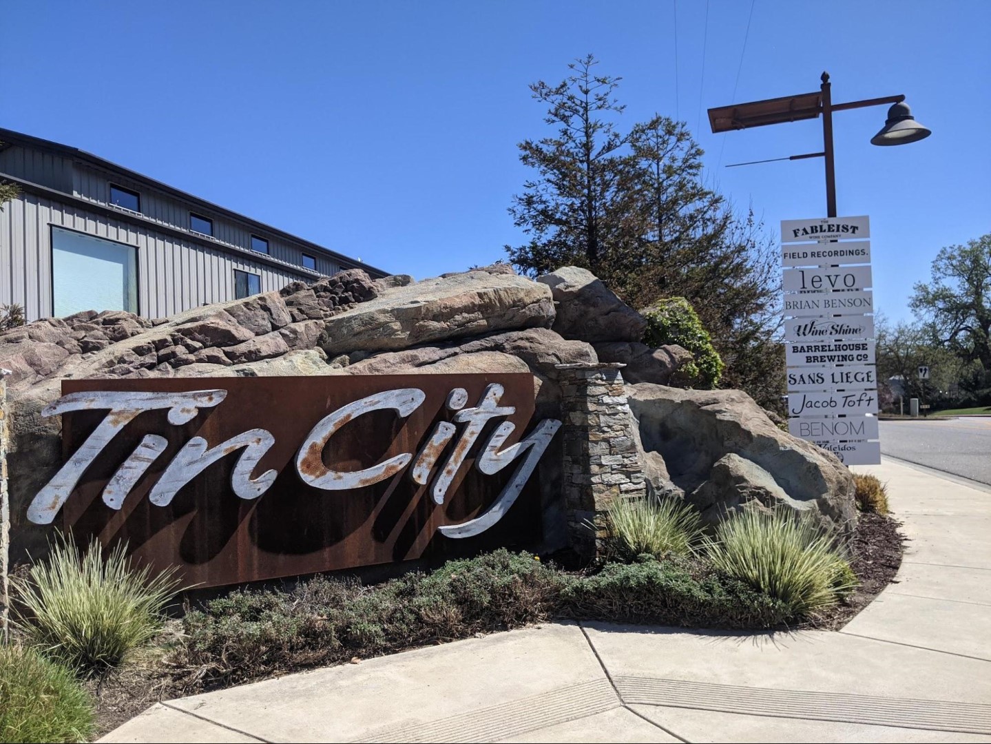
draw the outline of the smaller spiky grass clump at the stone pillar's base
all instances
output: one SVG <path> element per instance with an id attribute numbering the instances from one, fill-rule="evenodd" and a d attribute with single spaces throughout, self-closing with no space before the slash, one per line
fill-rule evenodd
<path id="1" fill-rule="evenodd" d="M 674 498 L 617 498 L 606 510 L 610 557 L 630 562 L 641 554 L 663 558 L 688 555 L 702 536 L 702 518 L 689 504 Z"/>

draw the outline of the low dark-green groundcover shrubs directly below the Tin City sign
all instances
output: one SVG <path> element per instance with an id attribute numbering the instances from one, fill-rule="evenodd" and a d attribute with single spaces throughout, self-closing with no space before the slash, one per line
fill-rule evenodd
<path id="1" fill-rule="evenodd" d="M 550 615 L 562 576 L 498 550 L 372 587 L 315 577 L 287 591 L 238 590 L 186 614 L 174 662 L 234 683 L 519 627 Z"/>

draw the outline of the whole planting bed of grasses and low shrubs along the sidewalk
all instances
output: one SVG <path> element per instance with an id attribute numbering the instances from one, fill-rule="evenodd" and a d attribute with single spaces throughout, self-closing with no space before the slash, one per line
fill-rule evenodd
<path id="1" fill-rule="evenodd" d="M 691 512 L 670 504 L 626 503 L 610 518 L 620 528 L 613 530 L 606 560 L 581 571 L 499 550 L 378 585 L 315 576 L 234 589 L 205 602 L 186 600 L 181 619 L 150 614 L 157 635 L 110 668 L 104 656 L 66 657 L 53 646 L 51 630 L 48 654 L 63 664 L 75 659 L 74 672 L 92 695 L 99 735 L 158 699 L 548 620 L 837 628 L 891 581 L 901 561 L 897 522 L 873 512 L 860 514 L 845 548 L 783 514 L 735 517 L 709 535 Z M 90 627 L 83 622 L 87 602 L 99 604 L 102 580 L 119 581 L 122 557 L 116 560 L 103 574 L 90 565 L 83 585 L 70 583 L 73 622 Z M 36 577 L 51 574 L 35 567 Z M 27 581 L 22 572 L 20 584 Z M 161 595 L 161 583 L 156 588 Z M 135 602 L 145 606 L 138 597 Z M 36 622 L 25 613 L 16 641 L 27 645 L 37 638 Z M 141 635 L 131 625 L 127 632 Z M 87 648 L 109 640 L 96 635 Z M 67 694 L 76 720 L 86 701 Z M 51 738 L 72 740 L 72 733 Z M 10 740 L 12 732 L 0 732 L 0 741 Z"/>

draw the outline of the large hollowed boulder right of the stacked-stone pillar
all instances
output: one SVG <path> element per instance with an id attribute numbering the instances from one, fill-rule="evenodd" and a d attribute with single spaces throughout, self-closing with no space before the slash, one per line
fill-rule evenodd
<path id="1" fill-rule="evenodd" d="M 746 393 L 649 383 L 627 392 L 655 491 L 684 495 L 711 523 L 741 508 L 780 505 L 843 534 L 852 529 L 850 472 L 781 431 Z"/>

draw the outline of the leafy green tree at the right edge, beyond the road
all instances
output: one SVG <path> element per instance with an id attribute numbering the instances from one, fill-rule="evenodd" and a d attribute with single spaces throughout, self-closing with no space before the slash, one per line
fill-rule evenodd
<path id="1" fill-rule="evenodd" d="M 910 305 L 933 340 L 991 372 L 991 234 L 939 251 Z"/>

